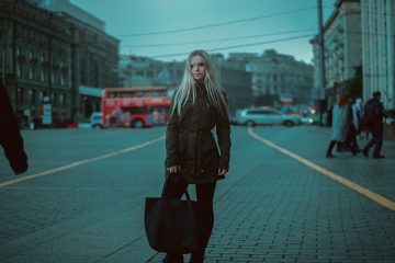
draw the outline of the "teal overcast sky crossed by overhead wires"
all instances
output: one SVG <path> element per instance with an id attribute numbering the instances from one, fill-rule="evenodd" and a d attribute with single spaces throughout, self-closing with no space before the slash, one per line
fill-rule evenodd
<path id="1" fill-rule="evenodd" d="M 313 58 L 308 41 L 317 33 L 317 0 L 70 1 L 105 22 L 123 55 L 183 60 L 193 49 L 227 55 L 275 48 L 297 60 Z M 335 0 L 323 2 L 327 18 Z"/>

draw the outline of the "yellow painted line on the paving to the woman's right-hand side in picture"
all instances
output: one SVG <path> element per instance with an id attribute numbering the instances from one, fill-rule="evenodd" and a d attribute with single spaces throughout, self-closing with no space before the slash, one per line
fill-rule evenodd
<path id="1" fill-rule="evenodd" d="M 306 167 L 308 167 L 308 168 L 324 174 L 325 176 L 328 176 L 331 180 L 334 180 L 334 181 L 336 181 L 336 182 L 338 182 L 338 183 L 340 183 L 340 184 L 342 184 L 342 185 L 345 185 L 345 186 L 347 186 L 347 187 L 349 187 L 349 188 L 351 188 L 351 190 L 366 196 L 368 198 L 374 201 L 375 203 L 377 203 L 377 204 L 380 204 L 380 205 L 382 205 L 382 206 L 384 206 L 384 207 L 386 207 L 386 208 L 388 208 L 391 210 L 395 210 L 395 202 L 393 202 L 393 201 L 391 201 L 391 199 L 388 199 L 388 198 L 386 198 L 386 197 L 384 197 L 384 196 L 382 196 L 382 195 L 380 195 L 377 193 L 374 193 L 371 190 L 365 188 L 365 187 L 363 187 L 363 186 L 361 186 L 361 185 L 359 185 L 359 184 L 357 184 L 357 183 L 354 183 L 354 182 L 352 182 L 352 181 L 350 181 L 348 179 L 345 179 L 343 176 L 338 175 L 338 174 L 329 171 L 326 168 L 319 167 L 319 165 L 308 161 L 307 159 L 304 159 L 303 157 L 300 157 L 300 156 L 297 156 L 297 155 L 295 155 L 295 153 L 280 147 L 280 146 L 271 142 L 270 140 L 263 139 L 262 137 L 255 134 L 252 132 L 252 128 L 248 128 L 248 134 L 252 138 L 263 142 L 264 145 L 269 146 L 270 148 L 273 148 L 273 149 L 280 151 L 281 153 L 283 153 L 285 156 L 289 156 L 289 157 L 295 159 L 298 162 L 302 162 Z"/>

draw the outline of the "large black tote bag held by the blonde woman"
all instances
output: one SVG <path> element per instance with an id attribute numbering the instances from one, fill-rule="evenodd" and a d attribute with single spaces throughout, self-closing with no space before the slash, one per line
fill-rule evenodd
<path id="1" fill-rule="evenodd" d="M 196 202 L 187 190 L 187 199 L 166 198 L 165 186 L 161 197 L 146 197 L 145 201 L 148 243 L 158 252 L 192 253 L 198 248 Z"/>

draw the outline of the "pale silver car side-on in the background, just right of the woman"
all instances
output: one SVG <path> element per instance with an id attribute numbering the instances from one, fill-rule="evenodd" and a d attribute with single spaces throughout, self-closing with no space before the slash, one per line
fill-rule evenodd
<path id="1" fill-rule="evenodd" d="M 302 117 L 298 115 L 286 115 L 270 107 L 247 107 L 236 111 L 236 117 L 233 119 L 237 125 L 253 127 L 256 125 L 278 125 L 287 127 L 302 124 Z"/>

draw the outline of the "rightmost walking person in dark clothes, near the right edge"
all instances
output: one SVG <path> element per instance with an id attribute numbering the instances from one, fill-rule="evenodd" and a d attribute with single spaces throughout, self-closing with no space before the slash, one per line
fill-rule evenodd
<path id="1" fill-rule="evenodd" d="M 362 152 L 365 157 L 369 157 L 369 150 L 374 146 L 373 158 L 380 159 L 385 158 L 381 155 L 381 149 L 383 146 L 383 134 L 384 134 L 384 124 L 383 121 L 386 117 L 384 114 L 384 106 L 381 100 L 381 92 L 373 92 L 373 98 L 366 101 L 364 105 L 364 115 L 363 122 L 369 133 L 373 137 L 368 141 L 365 147 L 363 147 Z"/>

